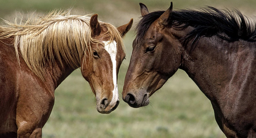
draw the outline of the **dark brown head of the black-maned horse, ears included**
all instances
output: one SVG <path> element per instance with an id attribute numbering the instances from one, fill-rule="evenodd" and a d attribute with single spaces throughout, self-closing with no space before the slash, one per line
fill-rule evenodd
<path id="1" fill-rule="evenodd" d="M 172 2 L 170 8 L 157 18 L 142 3 L 140 11 L 142 20 L 137 26 L 122 92 L 123 100 L 134 108 L 148 105 L 149 97 L 181 64 L 181 43 L 170 34 Z"/>

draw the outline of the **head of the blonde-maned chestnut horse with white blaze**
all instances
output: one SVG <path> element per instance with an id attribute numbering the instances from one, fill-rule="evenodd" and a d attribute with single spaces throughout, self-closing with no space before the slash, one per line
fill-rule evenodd
<path id="1" fill-rule="evenodd" d="M 98 112 L 109 114 L 119 104 L 117 76 L 125 57 L 122 37 L 132 27 L 128 24 L 114 28 L 113 25 L 98 22 L 97 14 L 90 19 L 90 49 L 81 60 L 81 72 L 89 82 L 96 96 Z"/>

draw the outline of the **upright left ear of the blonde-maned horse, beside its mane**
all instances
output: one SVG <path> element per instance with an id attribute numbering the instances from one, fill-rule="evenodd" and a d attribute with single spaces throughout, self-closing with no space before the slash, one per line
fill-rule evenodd
<path id="1" fill-rule="evenodd" d="M 91 36 L 95 38 L 96 36 L 100 35 L 101 26 L 98 22 L 98 14 L 95 14 L 90 19 L 90 27 L 91 27 Z"/>

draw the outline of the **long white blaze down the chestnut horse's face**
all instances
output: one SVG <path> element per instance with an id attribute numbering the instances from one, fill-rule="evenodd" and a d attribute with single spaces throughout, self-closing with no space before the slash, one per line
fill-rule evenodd
<path id="1" fill-rule="evenodd" d="M 118 100 L 118 88 L 117 88 L 117 72 L 116 72 L 116 54 L 117 54 L 117 43 L 116 41 L 113 41 L 110 43 L 110 41 L 103 41 L 105 44 L 105 50 L 110 54 L 111 61 L 113 64 L 113 84 L 114 84 L 114 90 L 112 91 L 113 96 L 110 102 L 111 106 L 116 105 L 116 102 Z"/>

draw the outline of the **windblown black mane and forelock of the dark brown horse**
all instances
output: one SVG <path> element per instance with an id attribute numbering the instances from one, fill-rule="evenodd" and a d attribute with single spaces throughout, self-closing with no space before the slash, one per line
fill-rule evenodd
<path id="1" fill-rule="evenodd" d="M 150 25 L 164 12 L 165 11 L 151 12 L 140 20 L 136 27 L 137 44 L 142 41 Z M 251 20 L 243 16 L 239 10 L 228 11 L 207 7 L 201 8 L 199 11 L 172 11 L 169 25 L 177 29 L 186 29 L 188 26 L 194 27 L 194 29 L 183 38 L 183 42 L 185 43 L 193 40 L 192 46 L 196 44 L 200 37 L 211 37 L 213 35 L 217 35 L 219 38 L 229 42 L 238 41 L 239 39 L 256 41 L 255 22 L 252 23 Z"/>

